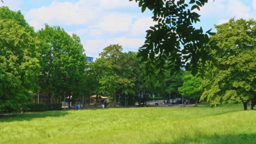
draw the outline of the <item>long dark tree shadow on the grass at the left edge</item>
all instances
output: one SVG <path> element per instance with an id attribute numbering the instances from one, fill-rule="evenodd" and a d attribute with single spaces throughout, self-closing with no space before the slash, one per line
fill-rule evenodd
<path id="1" fill-rule="evenodd" d="M 35 118 L 62 117 L 67 115 L 66 111 L 46 111 L 33 113 L 14 113 L 11 115 L 0 115 L 0 122 L 31 121 Z"/>

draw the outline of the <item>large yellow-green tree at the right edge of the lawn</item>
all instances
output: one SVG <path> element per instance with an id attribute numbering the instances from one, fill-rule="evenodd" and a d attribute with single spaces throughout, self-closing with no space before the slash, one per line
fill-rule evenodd
<path id="1" fill-rule="evenodd" d="M 216 35 L 211 38 L 211 45 L 216 45 L 213 53 L 218 59 L 216 67 L 209 67 L 210 73 L 205 77 L 201 100 L 206 99 L 211 105 L 221 103 L 252 102 L 256 97 L 256 21 L 236 20 L 215 26 Z M 210 65 L 211 66 L 211 65 Z"/>

